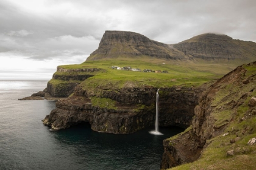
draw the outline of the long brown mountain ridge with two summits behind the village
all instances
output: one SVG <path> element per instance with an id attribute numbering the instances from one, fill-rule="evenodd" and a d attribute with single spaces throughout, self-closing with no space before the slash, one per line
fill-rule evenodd
<path id="1" fill-rule="evenodd" d="M 256 59 L 256 43 L 205 33 L 177 44 L 164 44 L 139 33 L 106 31 L 98 49 L 91 53 L 87 61 L 138 56 L 181 61 L 239 60 L 248 63 Z"/>

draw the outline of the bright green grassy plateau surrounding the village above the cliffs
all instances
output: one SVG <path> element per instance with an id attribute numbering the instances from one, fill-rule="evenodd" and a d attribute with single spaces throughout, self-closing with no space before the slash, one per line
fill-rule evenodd
<path id="1" fill-rule="evenodd" d="M 141 70 L 167 70 L 168 73 L 145 73 L 116 70 L 112 69 L 111 66 L 130 66 Z M 133 81 L 137 86 L 144 84 L 155 87 L 170 87 L 173 85 L 191 86 L 191 84 L 202 84 L 207 81 L 220 78 L 222 75 L 234 69 L 236 65 L 233 63 L 184 63 L 184 61 L 163 60 L 149 56 L 138 56 L 137 60 L 134 58 L 124 57 L 116 60 L 85 61 L 82 64 L 59 67 L 63 67 L 65 69 L 101 68 L 103 71 L 95 72 L 95 76 L 87 80 L 93 81 L 98 85 L 109 83 L 107 80 L 111 80 L 112 84 L 118 83 L 119 87 L 122 87 L 126 81 Z"/>

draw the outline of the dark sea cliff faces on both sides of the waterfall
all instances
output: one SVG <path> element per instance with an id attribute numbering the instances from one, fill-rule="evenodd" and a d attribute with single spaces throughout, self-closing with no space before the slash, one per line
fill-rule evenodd
<path id="1" fill-rule="evenodd" d="M 202 90 L 202 87 L 163 89 L 162 97 L 160 94 L 160 126 L 190 126 L 193 108 L 198 104 Z M 59 130 L 88 122 L 94 131 L 130 134 L 154 124 L 156 92 L 157 89 L 151 86 L 102 90 L 101 98 L 115 101 L 115 108 L 108 109 L 93 106 L 90 94 L 78 86 L 72 97 L 57 102 L 57 109 L 52 110 L 43 123 Z"/>

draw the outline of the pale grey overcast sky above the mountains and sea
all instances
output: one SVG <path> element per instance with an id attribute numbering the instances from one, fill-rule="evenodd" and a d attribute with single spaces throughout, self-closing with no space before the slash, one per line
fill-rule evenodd
<path id="1" fill-rule="evenodd" d="M 105 30 L 177 43 L 202 33 L 256 42 L 255 0 L 0 0 L 0 80 L 50 80 L 80 64 Z"/>

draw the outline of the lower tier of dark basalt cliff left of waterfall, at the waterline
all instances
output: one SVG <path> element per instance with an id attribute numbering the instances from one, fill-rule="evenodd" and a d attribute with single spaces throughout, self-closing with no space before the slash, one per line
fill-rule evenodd
<path id="1" fill-rule="evenodd" d="M 148 127 L 154 118 L 153 113 L 134 112 L 128 107 L 120 110 L 107 109 L 92 106 L 90 101 L 84 102 L 86 99 L 82 102 L 75 98 L 58 101 L 57 109 L 52 110 L 43 123 L 51 126 L 52 130 L 59 130 L 87 122 L 91 124 L 93 131 L 128 134 Z"/>

